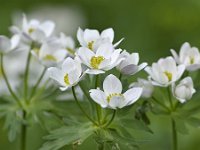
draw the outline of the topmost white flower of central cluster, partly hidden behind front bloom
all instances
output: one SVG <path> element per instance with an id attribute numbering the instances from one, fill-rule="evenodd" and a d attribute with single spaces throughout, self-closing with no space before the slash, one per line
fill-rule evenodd
<path id="1" fill-rule="evenodd" d="M 99 33 L 98 30 L 85 29 L 84 31 L 79 28 L 77 32 L 77 39 L 82 47 L 87 47 L 90 50 L 96 51 L 98 47 L 103 43 L 113 43 L 114 31 L 112 28 L 105 29 Z M 114 47 L 118 46 L 121 41 L 114 44 Z"/>

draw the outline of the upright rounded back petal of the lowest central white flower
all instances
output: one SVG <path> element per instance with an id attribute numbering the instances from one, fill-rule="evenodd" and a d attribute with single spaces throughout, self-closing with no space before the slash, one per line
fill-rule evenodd
<path id="1" fill-rule="evenodd" d="M 103 82 L 103 90 L 106 95 L 122 92 L 122 83 L 114 75 L 108 75 Z"/>

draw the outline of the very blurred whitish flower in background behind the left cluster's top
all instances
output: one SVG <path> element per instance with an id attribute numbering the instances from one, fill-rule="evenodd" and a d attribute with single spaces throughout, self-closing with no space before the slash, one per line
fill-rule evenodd
<path id="1" fill-rule="evenodd" d="M 22 12 L 14 12 L 13 22 L 15 25 L 20 25 Z M 76 35 L 79 26 L 86 26 L 87 19 L 85 12 L 78 5 L 51 5 L 45 4 L 32 7 L 26 12 L 27 18 L 37 18 L 40 22 L 46 19 L 56 23 L 54 33 L 59 34 L 64 32 L 67 35 Z"/>

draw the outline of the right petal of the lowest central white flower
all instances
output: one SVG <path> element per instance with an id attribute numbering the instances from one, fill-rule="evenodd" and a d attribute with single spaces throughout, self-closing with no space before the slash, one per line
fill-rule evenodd
<path id="1" fill-rule="evenodd" d="M 131 88 L 126 91 L 124 94 L 126 104 L 131 105 L 136 102 L 142 95 L 142 88 Z"/>

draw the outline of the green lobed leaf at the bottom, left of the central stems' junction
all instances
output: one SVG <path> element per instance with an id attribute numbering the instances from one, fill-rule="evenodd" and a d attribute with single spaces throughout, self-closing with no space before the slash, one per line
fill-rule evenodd
<path id="1" fill-rule="evenodd" d="M 94 133 L 94 126 L 91 123 L 80 123 L 74 126 L 63 126 L 53 130 L 48 136 L 48 140 L 40 150 L 58 150 L 65 145 L 80 145 Z"/>

